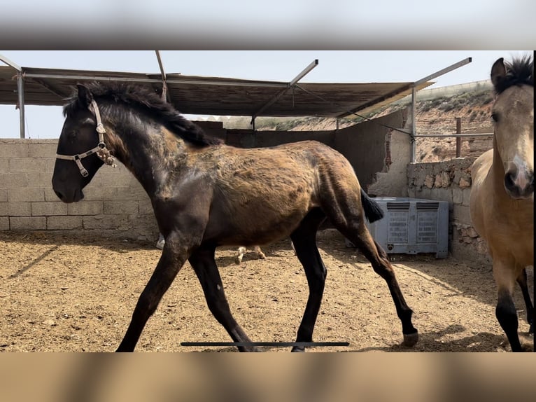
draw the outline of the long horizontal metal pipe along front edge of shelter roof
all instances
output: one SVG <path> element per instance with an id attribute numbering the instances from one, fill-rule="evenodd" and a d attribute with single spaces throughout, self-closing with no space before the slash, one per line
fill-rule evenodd
<path id="1" fill-rule="evenodd" d="M 127 78 L 127 77 L 107 77 L 107 76 L 65 76 L 61 74 L 31 74 L 24 73 L 24 78 L 52 78 L 59 80 L 73 80 L 73 81 L 127 81 L 132 83 L 160 83 L 162 82 L 158 78 Z M 288 88 L 287 83 L 258 83 L 252 81 L 250 83 L 242 82 L 225 82 L 225 81 L 202 81 L 202 80 L 167 80 L 167 83 L 172 84 L 195 84 L 195 85 L 227 85 L 227 86 L 238 86 L 238 87 L 251 87 L 255 85 L 256 87 L 270 87 L 270 88 Z"/>

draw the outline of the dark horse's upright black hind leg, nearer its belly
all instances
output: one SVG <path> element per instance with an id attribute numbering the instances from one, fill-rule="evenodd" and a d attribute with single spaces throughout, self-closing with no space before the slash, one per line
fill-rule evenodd
<path id="1" fill-rule="evenodd" d="M 324 219 L 325 214 L 320 209 L 313 209 L 290 235 L 299 262 L 304 267 L 307 284 L 309 284 L 309 298 L 302 323 L 299 324 L 296 342 L 313 341 L 313 329 L 320 303 L 322 303 L 326 269 L 316 247 L 316 231 Z M 304 352 L 304 347 L 295 346 L 292 352 Z"/>

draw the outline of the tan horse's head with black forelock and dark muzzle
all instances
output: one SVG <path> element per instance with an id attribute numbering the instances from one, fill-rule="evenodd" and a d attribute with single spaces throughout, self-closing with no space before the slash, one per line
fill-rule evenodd
<path id="1" fill-rule="evenodd" d="M 497 94 L 491 117 L 495 125 L 495 152 L 505 169 L 510 197 L 534 193 L 534 70 L 533 60 L 506 64 L 500 58 L 491 68 Z"/>

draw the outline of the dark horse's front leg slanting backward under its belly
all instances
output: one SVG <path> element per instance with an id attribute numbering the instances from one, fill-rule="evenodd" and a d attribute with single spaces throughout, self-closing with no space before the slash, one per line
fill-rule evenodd
<path id="1" fill-rule="evenodd" d="M 248 335 L 246 335 L 244 330 L 232 317 L 227 298 L 225 298 L 223 291 L 220 272 L 218 272 L 218 266 L 214 260 L 215 251 L 215 247 L 200 247 L 192 252 L 188 261 L 190 261 L 190 265 L 194 268 L 195 274 L 201 283 L 206 304 L 209 306 L 209 310 L 211 310 L 213 316 L 223 325 L 234 342 L 251 343 Z M 239 346 L 238 349 L 241 352 L 256 351 L 255 347 L 250 345 Z"/>

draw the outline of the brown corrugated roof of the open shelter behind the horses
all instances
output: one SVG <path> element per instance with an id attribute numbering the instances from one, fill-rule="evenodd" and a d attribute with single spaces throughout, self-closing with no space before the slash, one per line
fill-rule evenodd
<path id="1" fill-rule="evenodd" d="M 24 104 L 64 104 L 76 83 L 129 81 L 162 93 L 161 74 L 22 67 Z M 0 104 L 17 104 L 17 70 L 0 66 Z M 170 102 L 185 114 L 344 117 L 409 95 L 413 83 L 288 83 L 167 74 Z M 417 87 L 421 90 L 432 82 Z M 281 92 L 284 92 L 281 95 Z M 279 96 L 279 97 L 278 97 Z M 271 99 L 278 97 L 262 113 Z"/>

